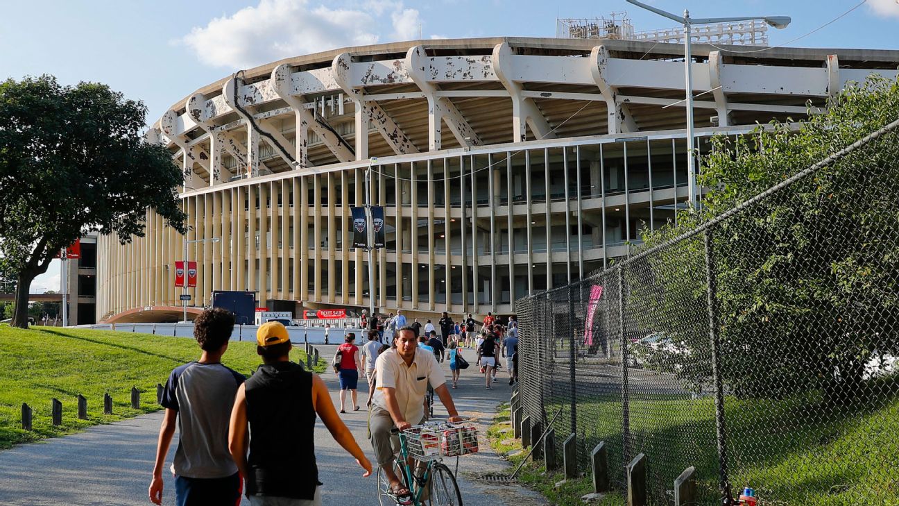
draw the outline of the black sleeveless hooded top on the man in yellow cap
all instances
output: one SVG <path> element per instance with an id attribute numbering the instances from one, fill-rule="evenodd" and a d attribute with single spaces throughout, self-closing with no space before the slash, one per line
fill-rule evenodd
<path id="1" fill-rule="evenodd" d="M 246 492 L 311 501 L 319 484 L 312 373 L 293 362 L 259 366 L 245 390 L 250 422 Z"/>

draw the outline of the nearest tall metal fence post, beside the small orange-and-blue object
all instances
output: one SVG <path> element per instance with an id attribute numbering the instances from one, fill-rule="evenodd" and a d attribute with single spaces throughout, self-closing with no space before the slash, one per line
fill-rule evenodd
<path id="1" fill-rule="evenodd" d="M 733 501 L 730 478 L 727 476 L 727 431 L 725 428 L 725 394 L 721 380 L 721 350 L 718 336 L 717 282 L 715 258 L 712 252 L 712 230 L 703 233 L 706 249 L 706 294 L 708 297 L 708 338 L 712 344 L 712 381 L 715 384 L 715 429 L 718 443 L 718 488 L 725 504 Z"/>

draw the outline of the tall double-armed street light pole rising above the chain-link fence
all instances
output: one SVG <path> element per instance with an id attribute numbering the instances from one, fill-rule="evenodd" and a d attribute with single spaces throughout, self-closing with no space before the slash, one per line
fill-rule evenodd
<path id="1" fill-rule="evenodd" d="M 752 21 L 761 19 L 765 23 L 770 24 L 777 29 L 787 28 L 792 21 L 789 16 L 754 16 L 754 17 L 729 17 L 729 18 L 690 18 L 690 11 L 684 9 L 683 16 L 671 14 L 662 9 L 657 9 L 652 5 L 645 5 L 637 0 L 625 0 L 628 4 L 643 7 L 647 11 L 654 12 L 668 19 L 681 23 L 683 25 L 683 64 L 685 95 L 687 101 L 687 193 L 689 194 L 689 203 L 691 208 L 696 208 L 697 197 L 699 196 L 696 184 L 696 150 L 693 146 L 693 72 L 690 68 L 692 63 L 692 54 L 690 53 L 690 25 L 691 24 L 708 24 L 708 23 L 730 23 L 737 21 Z"/>

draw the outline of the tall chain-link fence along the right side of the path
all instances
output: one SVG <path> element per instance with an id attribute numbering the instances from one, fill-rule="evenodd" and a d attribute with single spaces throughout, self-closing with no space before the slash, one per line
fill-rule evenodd
<path id="1" fill-rule="evenodd" d="M 517 303 L 524 414 L 654 504 L 899 504 L 897 122 L 574 285 Z"/>

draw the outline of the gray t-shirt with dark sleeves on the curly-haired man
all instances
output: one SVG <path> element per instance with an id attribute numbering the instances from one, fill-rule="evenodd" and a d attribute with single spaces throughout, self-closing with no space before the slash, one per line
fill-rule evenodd
<path id="1" fill-rule="evenodd" d="M 178 411 L 178 449 L 172 472 L 188 478 L 224 478 L 237 472 L 227 429 L 237 388 L 245 377 L 221 364 L 191 362 L 169 375 L 164 408 Z"/>

